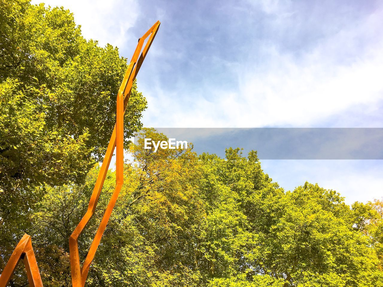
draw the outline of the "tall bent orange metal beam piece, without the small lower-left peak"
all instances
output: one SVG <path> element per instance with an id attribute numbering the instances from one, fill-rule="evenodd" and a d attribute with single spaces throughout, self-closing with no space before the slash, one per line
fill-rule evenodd
<path id="1" fill-rule="evenodd" d="M 126 110 L 126 106 L 129 101 L 133 81 L 136 78 L 139 68 L 141 67 L 142 61 L 145 59 L 147 50 L 149 49 L 155 34 L 158 31 L 160 26 L 160 21 L 157 21 L 145 34 L 138 40 L 136 51 L 134 51 L 132 60 L 126 70 L 125 77 L 121 83 L 121 86 L 118 91 L 117 96 L 117 121 L 115 128 L 113 129 L 112 136 L 108 148 L 106 149 L 106 155 L 101 165 L 100 171 L 98 173 L 97 181 L 95 188 L 93 189 L 92 196 L 88 205 L 88 210 L 85 213 L 84 217 L 80 221 L 79 225 L 75 228 L 74 232 L 69 238 L 69 251 L 70 251 L 70 267 L 72 272 L 72 286 L 73 287 L 83 287 L 88 276 L 88 271 L 90 264 L 95 256 L 98 245 L 100 244 L 101 237 L 105 231 L 106 224 L 109 221 L 110 215 L 112 213 L 113 207 L 116 204 L 118 194 L 121 191 L 123 184 L 123 163 L 124 163 L 124 127 L 123 127 L 123 117 Z M 144 51 L 140 57 L 138 57 L 139 52 L 141 52 L 143 43 L 145 39 L 151 35 L 144 47 Z M 132 76 L 133 75 L 133 76 Z M 79 258 L 79 249 L 78 249 L 78 238 L 85 226 L 92 217 L 94 210 L 96 208 L 98 198 L 100 197 L 100 192 L 104 184 L 106 172 L 108 171 L 111 157 L 113 156 L 113 151 L 116 148 L 116 188 L 113 192 L 111 199 L 109 201 L 108 207 L 106 207 L 105 214 L 101 220 L 100 226 L 96 232 L 96 235 L 93 239 L 92 245 L 89 248 L 87 257 L 83 263 L 83 266 L 80 267 L 80 258 Z"/>

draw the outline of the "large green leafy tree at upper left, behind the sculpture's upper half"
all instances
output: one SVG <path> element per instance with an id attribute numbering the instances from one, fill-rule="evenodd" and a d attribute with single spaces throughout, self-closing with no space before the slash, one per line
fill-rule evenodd
<path id="1" fill-rule="evenodd" d="M 63 8 L 0 0 L 0 27 L 0 223 L 11 228 L 46 184 L 81 183 L 103 156 L 127 65 L 117 48 L 85 40 Z M 134 85 L 125 137 L 145 108 Z"/>

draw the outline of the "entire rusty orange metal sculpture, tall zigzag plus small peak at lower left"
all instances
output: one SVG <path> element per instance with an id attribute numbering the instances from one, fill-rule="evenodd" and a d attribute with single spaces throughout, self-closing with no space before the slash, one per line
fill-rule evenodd
<path id="1" fill-rule="evenodd" d="M 139 69 L 141 68 L 142 62 L 144 61 L 146 57 L 146 54 L 153 42 L 153 39 L 155 37 L 155 34 L 158 31 L 159 26 L 160 26 L 160 21 L 157 21 L 138 40 L 136 50 L 134 51 L 133 57 L 128 66 L 128 69 L 126 70 L 124 79 L 118 91 L 116 125 L 110 137 L 110 142 L 108 144 L 108 148 L 106 149 L 106 154 L 102 162 L 100 171 L 98 173 L 97 181 L 93 189 L 92 196 L 90 197 L 87 212 L 85 213 L 79 225 L 77 225 L 74 232 L 72 233 L 72 235 L 70 235 L 70 238 L 69 238 L 70 268 L 72 272 L 73 287 L 84 287 L 85 281 L 88 276 L 90 264 L 92 263 L 92 260 L 96 254 L 98 245 L 100 244 L 100 241 L 101 241 L 101 237 L 105 231 L 106 224 L 109 221 L 110 215 L 116 204 L 117 197 L 119 195 L 119 192 L 121 191 L 121 187 L 123 184 L 123 164 L 124 164 L 124 147 L 123 147 L 124 113 L 128 105 L 133 81 L 136 78 Z M 142 50 L 142 46 L 144 45 L 144 42 L 148 37 L 149 39 L 147 40 L 144 46 L 144 49 Z M 140 55 L 141 50 L 142 50 L 142 53 Z M 100 197 L 100 192 L 103 187 L 105 176 L 108 171 L 110 160 L 111 160 L 111 157 L 113 156 L 115 147 L 116 147 L 116 188 L 111 196 L 108 206 L 106 207 L 100 226 L 98 227 L 96 235 L 88 250 L 87 257 L 85 258 L 85 261 L 81 267 L 80 257 L 79 257 L 79 247 L 78 247 L 77 241 L 82 231 L 86 227 L 87 223 L 89 222 L 90 218 L 92 217 L 93 213 L 95 212 L 97 202 Z M 8 260 L 8 263 L 5 266 L 0 276 L 0 287 L 7 286 L 20 259 L 24 259 L 29 285 L 33 287 L 43 287 L 43 282 L 41 281 L 41 276 L 36 263 L 36 258 L 33 253 L 31 236 L 27 234 L 25 234 L 23 238 L 21 238 L 20 242 L 18 243 L 15 250 L 13 251 L 10 259 Z"/>

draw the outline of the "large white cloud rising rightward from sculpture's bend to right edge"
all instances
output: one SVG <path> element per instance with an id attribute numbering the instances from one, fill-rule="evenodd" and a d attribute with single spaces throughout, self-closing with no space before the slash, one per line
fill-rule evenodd
<path id="1" fill-rule="evenodd" d="M 271 10 L 277 5 L 272 3 Z M 167 127 L 316 126 L 357 105 L 373 107 L 383 99 L 383 35 L 377 29 L 382 18 L 382 11 L 376 11 L 355 20 L 300 55 L 282 50 L 277 46 L 280 43 L 265 41 L 255 55 L 250 49 L 245 62 L 222 60 L 228 73 L 237 76 L 236 91 L 206 84 L 200 94 L 169 93 L 160 85 L 146 89 L 140 83 L 149 101 L 144 123 Z"/>

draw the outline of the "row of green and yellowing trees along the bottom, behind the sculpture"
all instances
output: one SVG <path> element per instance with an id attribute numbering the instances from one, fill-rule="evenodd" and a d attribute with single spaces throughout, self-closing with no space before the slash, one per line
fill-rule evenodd
<path id="1" fill-rule="evenodd" d="M 89 286 L 383 286 L 381 201 L 349 207 L 337 192 L 310 183 L 285 192 L 256 152 L 243 157 L 229 148 L 224 159 L 190 149 L 154 153 L 143 148 L 145 137 L 166 138 L 144 129 L 131 145 L 135 160 L 126 162 Z M 47 188 L 31 216 L 27 231 L 46 286 L 70 285 L 67 238 L 97 172 L 82 185 Z M 80 238 L 82 259 L 114 187 L 109 171 Z"/>

